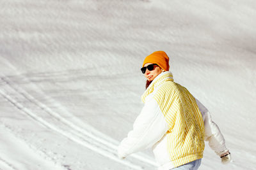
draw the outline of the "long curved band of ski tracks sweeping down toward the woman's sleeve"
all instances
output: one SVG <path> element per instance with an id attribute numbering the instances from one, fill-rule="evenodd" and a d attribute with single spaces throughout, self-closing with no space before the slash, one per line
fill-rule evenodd
<path id="1" fill-rule="evenodd" d="M 144 169 L 141 166 L 132 164 L 128 160 L 118 159 L 116 156 L 117 145 L 115 143 L 104 139 L 104 136 L 101 136 L 101 134 L 96 133 L 95 131 L 92 132 L 92 129 L 81 128 L 67 120 L 67 118 L 61 117 L 60 114 L 52 111 L 51 108 L 47 107 L 43 103 L 40 103 L 40 101 L 36 100 L 24 89 L 15 85 L 15 83 L 13 83 L 10 78 L 6 76 L 1 77 L 0 94 L 15 108 L 18 108 L 20 111 L 22 111 L 22 113 L 31 117 L 33 120 L 38 122 L 38 124 L 42 124 L 44 127 L 58 132 L 62 136 L 65 136 L 66 138 L 71 139 L 72 141 L 79 143 L 80 145 L 85 146 L 86 148 L 89 148 L 90 150 L 93 150 L 104 157 L 108 157 L 109 159 L 123 164 L 124 166 L 130 167 L 131 169 Z M 39 109 L 39 111 L 33 113 L 35 108 Z M 58 126 L 49 123 L 43 117 L 40 117 L 40 115 L 45 115 L 45 113 L 50 115 L 52 120 L 57 121 Z M 151 166 L 156 166 L 152 160 L 149 160 L 141 155 L 133 154 L 131 157 L 134 157 L 135 159 L 145 162 Z"/>

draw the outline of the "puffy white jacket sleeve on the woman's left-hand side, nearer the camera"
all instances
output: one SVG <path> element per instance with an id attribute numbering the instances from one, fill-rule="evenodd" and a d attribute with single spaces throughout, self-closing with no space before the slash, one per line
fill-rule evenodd
<path id="1" fill-rule="evenodd" d="M 167 131 L 168 124 L 157 102 L 153 97 L 148 97 L 132 131 L 118 146 L 118 157 L 125 158 L 131 153 L 151 148 Z"/>

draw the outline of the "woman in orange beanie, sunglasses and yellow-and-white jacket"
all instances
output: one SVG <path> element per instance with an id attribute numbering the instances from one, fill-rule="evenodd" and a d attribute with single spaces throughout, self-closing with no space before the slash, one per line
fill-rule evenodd
<path id="1" fill-rule="evenodd" d="M 220 129 L 207 109 L 189 91 L 173 81 L 169 57 L 163 51 L 148 55 L 141 71 L 147 78 L 141 97 L 145 106 L 133 130 L 118 146 L 118 157 L 152 148 L 159 170 L 198 169 L 204 153 L 204 140 L 230 162 Z"/>

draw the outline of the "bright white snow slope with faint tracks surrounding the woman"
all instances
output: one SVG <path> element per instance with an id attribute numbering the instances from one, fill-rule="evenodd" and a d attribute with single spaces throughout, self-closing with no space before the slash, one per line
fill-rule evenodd
<path id="1" fill-rule="evenodd" d="M 0 1 L 0 169 L 156 169 L 116 147 L 143 104 L 143 59 L 211 111 L 233 162 L 208 145 L 200 169 L 255 169 L 256 2 Z"/>

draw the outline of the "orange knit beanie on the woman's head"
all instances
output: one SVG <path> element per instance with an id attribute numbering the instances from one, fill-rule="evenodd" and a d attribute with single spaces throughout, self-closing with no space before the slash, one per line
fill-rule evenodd
<path id="1" fill-rule="evenodd" d="M 157 64 L 159 67 L 161 67 L 165 71 L 169 71 L 169 68 L 170 68 L 169 57 L 163 51 L 157 51 L 157 52 L 154 52 L 154 53 L 151 53 L 150 55 L 148 55 L 143 62 L 143 66 L 148 62 Z"/>

